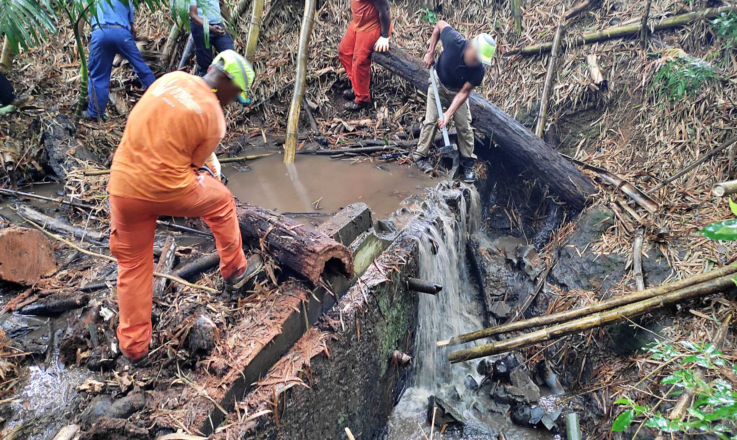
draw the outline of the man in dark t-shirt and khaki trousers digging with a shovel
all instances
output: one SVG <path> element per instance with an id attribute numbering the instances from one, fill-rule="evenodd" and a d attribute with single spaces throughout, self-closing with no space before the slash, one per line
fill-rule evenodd
<path id="1" fill-rule="evenodd" d="M 435 65 L 438 93 L 441 99 L 450 101 L 450 107 L 442 115 L 438 114 L 435 92 L 433 85 L 430 84 L 427 88 L 425 121 L 422 121 L 419 142 L 412 158 L 423 172 L 432 170 L 433 165 L 427 159 L 430 144 L 433 143 L 437 130 L 447 126 L 453 117 L 455 130 L 458 132 L 458 149 L 461 153 L 461 180 L 474 182 L 476 174 L 473 167 L 476 156 L 473 154 L 471 110 L 467 99 L 473 88 L 481 85 L 486 65 L 491 65 L 497 45 L 494 38 L 486 33 L 467 40 L 453 29 L 453 26 L 439 20 L 430 38 L 430 48 L 423 58 L 427 68 L 435 63 L 435 46 L 438 40 L 443 43 L 443 52 Z"/>

